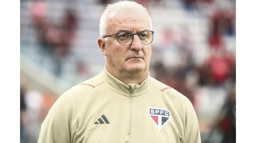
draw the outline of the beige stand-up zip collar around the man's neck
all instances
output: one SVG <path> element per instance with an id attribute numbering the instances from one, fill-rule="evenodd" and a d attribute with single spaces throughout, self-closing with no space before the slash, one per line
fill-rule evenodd
<path id="1" fill-rule="evenodd" d="M 132 91 L 132 97 L 140 96 L 148 91 L 150 85 L 150 77 L 148 77 L 140 84 L 124 84 L 122 81 L 118 80 L 114 76 L 112 76 L 108 70 L 105 68 L 103 75 L 105 77 L 105 81 L 108 83 L 109 88 L 118 92 L 121 95 L 128 96 L 130 91 Z"/>

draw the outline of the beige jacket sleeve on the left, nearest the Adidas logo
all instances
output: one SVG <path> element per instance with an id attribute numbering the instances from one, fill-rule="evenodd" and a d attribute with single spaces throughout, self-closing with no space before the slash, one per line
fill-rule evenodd
<path id="1" fill-rule="evenodd" d="M 38 143 L 71 143 L 70 117 L 70 106 L 62 95 L 42 123 Z"/>

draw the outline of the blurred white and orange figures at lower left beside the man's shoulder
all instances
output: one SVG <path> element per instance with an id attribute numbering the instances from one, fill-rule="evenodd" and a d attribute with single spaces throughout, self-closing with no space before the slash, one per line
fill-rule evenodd
<path id="1" fill-rule="evenodd" d="M 20 83 L 20 141 L 21 143 L 36 143 L 40 126 L 49 109 L 58 96 L 52 93 L 42 93 L 26 87 L 26 81 Z"/>

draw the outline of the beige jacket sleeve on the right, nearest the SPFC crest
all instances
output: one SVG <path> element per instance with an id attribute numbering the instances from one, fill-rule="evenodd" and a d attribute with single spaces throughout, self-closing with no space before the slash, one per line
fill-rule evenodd
<path id="1" fill-rule="evenodd" d="M 192 103 L 186 100 L 184 140 L 182 143 L 201 143 L 199 123 Z"/>

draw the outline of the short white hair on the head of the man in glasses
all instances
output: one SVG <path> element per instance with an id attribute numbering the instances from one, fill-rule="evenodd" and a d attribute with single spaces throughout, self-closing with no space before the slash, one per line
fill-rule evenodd
<path id="1" fill-rule="evenodd" d="M 115 12 L 124 8 L 141 9 L 146 11 L 146 13 L 148 14 L 147 9 L 143 7 L 143 5 L 138 4 L 134 1 L 119 1 L 117 3 L 108 4 L 100 18 L 100 37 L 103 37 L 107 34 L 108 19 L 113 17 Z M 152 30 L 152 21 L 149 14 L 148 19 L 150 24 L 150 30 Z"/>

